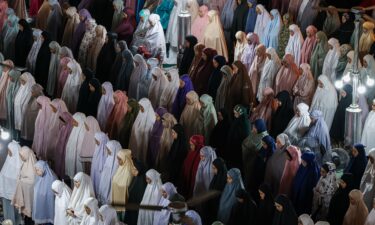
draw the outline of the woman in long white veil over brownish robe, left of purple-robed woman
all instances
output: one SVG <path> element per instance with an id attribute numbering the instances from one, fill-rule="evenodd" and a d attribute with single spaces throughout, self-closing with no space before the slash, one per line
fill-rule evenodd
<path id="1" fill-rule="evenodd" d="M 156 116 L 151 102 L 147 98 L 139 100 L 139 106 L 139 113 L 134 121 L 130 135 L 129 149 L 135 158 L 146 163 L 148 140 L 154 127 Z"/>

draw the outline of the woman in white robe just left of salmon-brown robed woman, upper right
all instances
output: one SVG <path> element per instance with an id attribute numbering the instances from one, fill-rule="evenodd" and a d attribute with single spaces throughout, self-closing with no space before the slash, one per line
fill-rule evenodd
<path id="1" fill-rule="evenodd" d="M 267 59 L 264 64 L 262 74 L 260 76 L 257 98 L 261 102 L 263 99 L 263 91 L 267 87 L 272 88 L 275 76 L 281 67 L 281 60 L 277 52 L 273 48 L 267 48 Z"/>

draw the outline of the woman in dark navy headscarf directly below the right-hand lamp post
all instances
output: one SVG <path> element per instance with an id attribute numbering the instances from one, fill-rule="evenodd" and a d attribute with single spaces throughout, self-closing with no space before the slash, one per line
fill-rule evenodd
<path id="1" fill-rule="evenodd" d="M 366 169 L 367 157 L 366 157 L 365 146 L 363 144 L 355 144 L 353 147 L 357 149 L 358 155 L 352 156 L 350 158 L 349 165 L 346 168 L 345 172 L 353 174 L 354 188 L 359 189 L 363 173 L 365 172 L 365 169 Z"/>

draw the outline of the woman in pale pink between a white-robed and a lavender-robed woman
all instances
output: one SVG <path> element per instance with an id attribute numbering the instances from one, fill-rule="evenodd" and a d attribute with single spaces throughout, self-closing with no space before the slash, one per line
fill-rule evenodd
<path id="1" fill-rule="evenodd" d="M 85 136 L 83 138 L 81 147 L 81 162 L 91 161 L 92 156 L 95 151 L 95 133 L 100 131 L 98 121 L 92 117 L 88 116 L 85 120 Z"/>

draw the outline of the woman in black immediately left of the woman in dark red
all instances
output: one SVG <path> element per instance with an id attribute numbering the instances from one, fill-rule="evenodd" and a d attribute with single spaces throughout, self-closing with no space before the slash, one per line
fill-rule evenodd
<path id="1" fill-rule="evenodd" d="M 169 181 L 175 184 L 179 179 L 182 165 L 188 153 L 188 140 L 181 124 L 174 125 L 172 129 L 177 133 L 177 138 L 173 141 L 168 153 L 167 171 L 169 173 Z"/>

